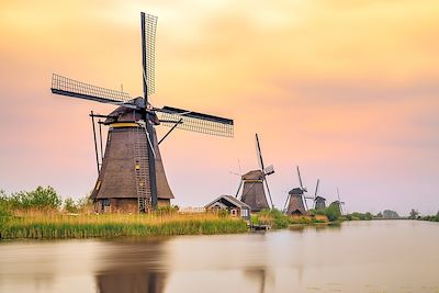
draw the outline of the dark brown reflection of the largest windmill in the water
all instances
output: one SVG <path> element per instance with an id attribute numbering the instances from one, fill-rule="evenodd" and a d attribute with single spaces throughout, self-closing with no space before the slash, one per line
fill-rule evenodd
<path id="1" fill-rule="evenodd" d="M 106 263 L 95 275 L 98 292 L 164 292 L 167 273 L 160 268 L 164 241 L 116 243 L 104 256 Z"/>

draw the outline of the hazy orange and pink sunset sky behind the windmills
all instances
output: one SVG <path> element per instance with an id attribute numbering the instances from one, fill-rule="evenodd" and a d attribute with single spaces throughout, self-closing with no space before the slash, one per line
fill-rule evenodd
<path id="1" fill-rule="evenodd" d="M 295 165 L 349 211 L 439 209 L 439 2 L 2 1 L 0 189 L 95 180 L 90 110 L 53 95 L 52 72 L 142 93 L 139 11 L 158 15 L 153 103 L 229 116 L 235 138 L 176 132 L 162 145 L 181 205 L 234 194 L 257 167 L 283 205 Z M 162 133 L 162 129 L 159 131 Z"/>

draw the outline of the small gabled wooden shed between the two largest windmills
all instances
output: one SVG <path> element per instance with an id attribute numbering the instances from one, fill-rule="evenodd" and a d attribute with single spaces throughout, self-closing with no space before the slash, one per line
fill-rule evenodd
<path id="1" fill-rule="evenodd" d="M 221 195 L 204 207 L 211 212 L 226 210 L 233 217 L 250 219 L 250 206 L 232 195 Z"/>

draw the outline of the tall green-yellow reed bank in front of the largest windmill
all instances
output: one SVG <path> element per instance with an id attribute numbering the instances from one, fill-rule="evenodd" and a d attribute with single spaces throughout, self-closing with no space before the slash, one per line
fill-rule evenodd
<path id="1" fill-rule="evenodd" d="M 76 215 L 10 216 L 1 239 L 59 239 L 121 236 L 170 236 L 247 232 L 244 221 L 200 215 Z"/>

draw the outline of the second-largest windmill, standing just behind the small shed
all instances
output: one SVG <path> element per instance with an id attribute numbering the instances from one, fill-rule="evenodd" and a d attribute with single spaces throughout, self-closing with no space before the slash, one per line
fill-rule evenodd
<path id="1" fill-rule="evenodd" d="M 251 212 L 260 212 L 266 209 L 270 209 L 267 202 L 266 192 L 263 184 L 266 184 L 268 195 L 270 198 L 271 209 L 273 207 L 273 201 L 271 200 L 270 188 L 268 187 L 267 177 L 274 173 L 272 165 L 266 167 L 263 165 L 262 153 L 260 149 L 259 137 L 256 134 L 256 154 L 258 157 L 259 169 L 251 170 L 241 176 L 236 198 L 243 188 L 240 201 L 245 202 L 251 207 Z"/>

